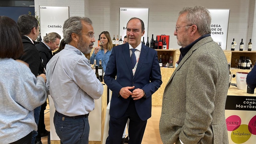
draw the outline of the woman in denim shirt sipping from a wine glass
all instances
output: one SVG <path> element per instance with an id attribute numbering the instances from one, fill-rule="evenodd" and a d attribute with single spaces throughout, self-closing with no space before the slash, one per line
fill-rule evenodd
<path id="1" fill-rule="evenodd" d="M 112 50 L 112 40 L 108 31 L 101 32 L 100 39 L 100 47 L 94 48 L 90 61 L 94 64 L 94 60 L 96 59 L 96 64 L 99 66 L 99 61 L 101 59 L 101 66 L 105 71 Z"/>

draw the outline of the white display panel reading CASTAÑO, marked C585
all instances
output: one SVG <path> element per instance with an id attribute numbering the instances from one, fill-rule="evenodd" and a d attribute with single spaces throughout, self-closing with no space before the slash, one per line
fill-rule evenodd
<path id="1" fill-rule="evenodd" d="M 39 6 L 39 12 L 42 39 L 50 32 L 56 32 L 63 38 L 63 24 L 69 18 L 69 7 Z"/>

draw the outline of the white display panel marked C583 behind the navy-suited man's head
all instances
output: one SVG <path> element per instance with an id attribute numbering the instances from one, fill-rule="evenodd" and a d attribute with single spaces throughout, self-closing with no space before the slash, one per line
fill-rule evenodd
<path id="1" fill-rule="evenodd" d="M 132 17 L 138 17 L 140 18 L 145 25 L 145 34 L 143 37 L 145 37 L 145 42 L 148 37 L 148 17 L 149 17 L 149 8 L 131 8 L 131 7 L 120 7 L 119 8 L 119 39 L 120 36 L 122 36 L 122 39 L 124 36 L 126 36 L 126 25 L 127 22 Z M 142 40 L 143 40 L 142 37 Z"/>

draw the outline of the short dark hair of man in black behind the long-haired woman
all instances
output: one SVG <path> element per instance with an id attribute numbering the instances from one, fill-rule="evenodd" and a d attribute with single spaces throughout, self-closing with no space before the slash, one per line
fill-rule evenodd
<path id="1" fill-rule="evenodd" d="M 17 20 L 18 27 L 20 28 L 22 35 L 28 35 L 30 34 L 31 30 L 33 28 L 38 27 L 38 21 L 36 17 L 31 15 L 21 15 L 18 17 Z"/>

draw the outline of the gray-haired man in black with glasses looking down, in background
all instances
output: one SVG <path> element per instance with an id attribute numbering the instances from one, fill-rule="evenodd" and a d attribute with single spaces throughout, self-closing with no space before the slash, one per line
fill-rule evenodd
<path id="1" fill-rule="evenodd" d="M 59 47 L 61 36 L 56 32 L 48 33 L 43 37 L 43 41 L 39 44 L 36 44 L 36 48 L 39 51 L 40 58 L 43 61 L 44 68 L 49 62 L 49 60 L 53 57 L 52 51 Z M 44 70 L 39 70 L 39 73 L 45 73 Z M 46 137 L 49 135 L 49 132 L 46 130 L 46 126 L 44 124 L 44 110 L 46 110 L 47 102 L 45 101 L 43 105 L 41 105 L 41 111 L 39 114 L 39 122 L 37 126 L 37 136 L 35 140 L 35 144 L 40 144 L 41 137 Z"/>

